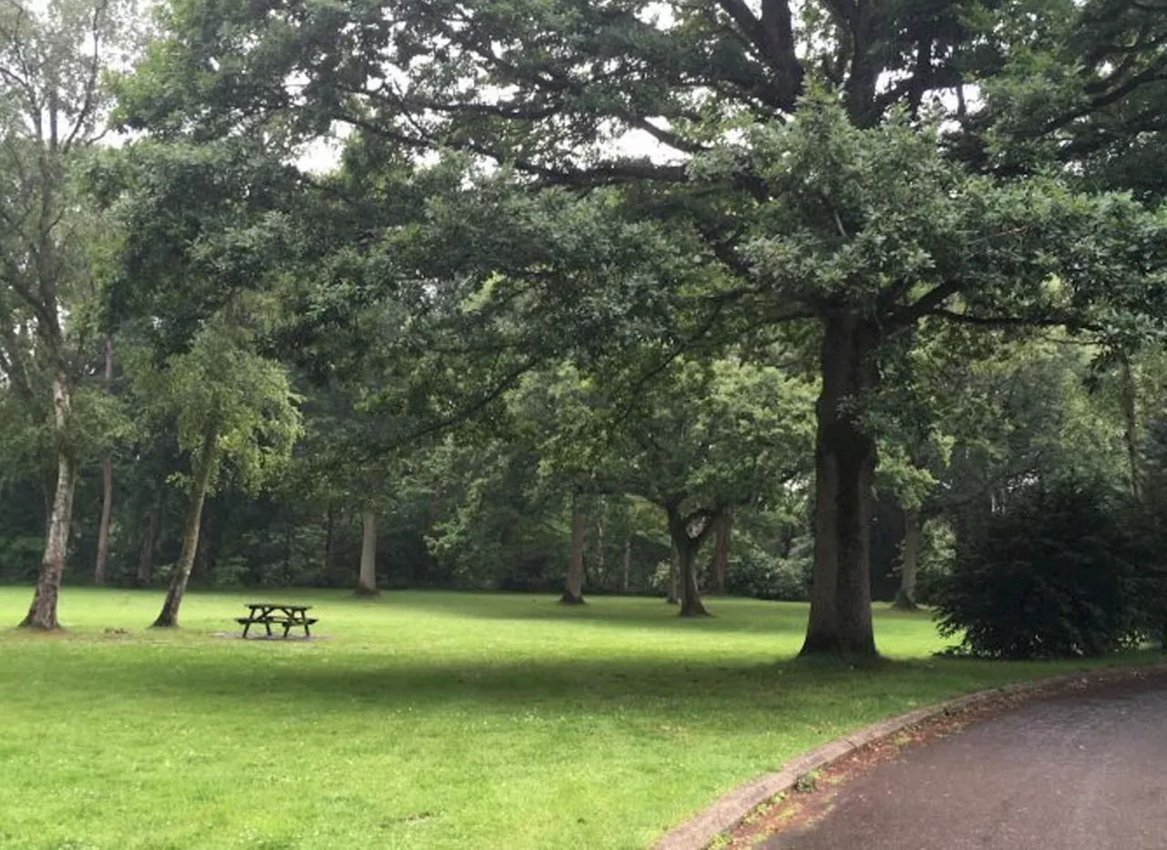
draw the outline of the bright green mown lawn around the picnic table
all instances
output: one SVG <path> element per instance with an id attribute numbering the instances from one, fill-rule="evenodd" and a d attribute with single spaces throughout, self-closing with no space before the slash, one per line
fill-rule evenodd
<path id="1" fill-rule="evenodd" d="M 0 623 L 29 596 L 0 589 Z M 216 637 L 254 596 L 322 638 Z M 142 628 L 160 604 L 67 589 L 64 634 L 0 632 L 4 850 L 638 850 L 846 730 L 1074 668 L 932 659 L 887 611 L 894 661 L 791 662 L 805 607 L 746 600 L 193 593 Z"/>

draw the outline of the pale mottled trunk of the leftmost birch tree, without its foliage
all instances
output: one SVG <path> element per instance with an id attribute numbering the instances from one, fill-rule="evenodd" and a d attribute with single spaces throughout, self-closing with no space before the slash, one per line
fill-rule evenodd
<path id="1" fill-rule="evenodd" d="M 21 621 L 27 628 L 58 628 L 57 597 L 61 595 L 61 576 L 65 569 L 69 552 L 69 527 L 72 524 L 72 499 L 77 480 L 72 456 L 65 441 L 65 431 L 72 413 L 72 389 L 64 372 L 53 375 L 53 416 L 57 436 L 57 483 L 53 493 L 53 510 L 44 535 L 44 555 L 36 575 L 36 590 L 28 614 Z"/>

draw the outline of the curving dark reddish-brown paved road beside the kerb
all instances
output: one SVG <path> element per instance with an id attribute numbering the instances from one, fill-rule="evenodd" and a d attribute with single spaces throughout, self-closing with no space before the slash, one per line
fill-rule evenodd
<path id="1" fill-rule="evenodd" d="M 766 850 L 1167 850 L 1167 680 L 1036 702 L 847 781 Z"/>

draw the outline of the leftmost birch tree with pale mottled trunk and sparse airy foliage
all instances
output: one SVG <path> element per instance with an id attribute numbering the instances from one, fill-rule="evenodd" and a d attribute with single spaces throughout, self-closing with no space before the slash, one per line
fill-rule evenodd
<path id="1" fill-rule="evenodd" d="M 71 170 L 103 135 L 103 72 L 130 49 L 119 0 L 0 0 L 0 371 L 50 399 L 55 479 L 44 555 L 21 625 L 57 627 L 77 479 L 72 436 L 82 343 L 78 290 L 92 275 Z M 44 391 L 48 392 L 44 392 Z"/>

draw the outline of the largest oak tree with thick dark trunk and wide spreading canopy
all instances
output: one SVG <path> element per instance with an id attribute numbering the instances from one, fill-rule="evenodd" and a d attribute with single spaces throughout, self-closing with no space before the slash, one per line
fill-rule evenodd
<path id="1" fill-rule="evenodd" d="M 804 652 L 862 655 L 875 652 L 876 445 L 865 405 L 888 340 L 925 316 L 1064 324 L 1095 321 L 1084 314 L 1102 301 L 1149 307 L 1158 222 L 1128 199 L 1022 180 L 1058 161 L 1047 140 L 1162 80 L 1155 37 L 1130 47 L 1130 28 L 1099 24 L 1106 9 L 1138 8 L 176 0 L 162 14 L 168 38 L 125 94 L 132 122 L 160 134 L 279 127 L 313 139 L 345 127 L 398 149 L 502 163 L 526 191 L 617 185 L 614 215 L 696 234 L 700 247 L 686 255 L 732 281 L 705 300 L 706 319 L 693 323 L 701 337 L 815 329 L 822 394 Z M 1016 69 L 1050 65 L 1063 69 L 1051 111 L 1018 120 L 1032 99 Z M 1033 153 L 1001 156 L 1001 139 Z"/>

